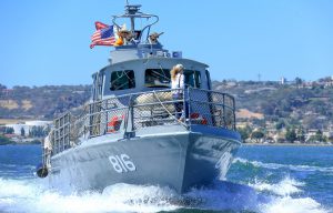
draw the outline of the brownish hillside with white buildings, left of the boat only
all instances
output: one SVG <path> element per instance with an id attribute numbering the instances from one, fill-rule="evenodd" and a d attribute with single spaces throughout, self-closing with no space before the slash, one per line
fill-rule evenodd
<path id="1" fill-rule="evenodd" d="M 90 85 L 13 87 L 0 84 L 0 119 L 52 120 L 90 97 Z"/>

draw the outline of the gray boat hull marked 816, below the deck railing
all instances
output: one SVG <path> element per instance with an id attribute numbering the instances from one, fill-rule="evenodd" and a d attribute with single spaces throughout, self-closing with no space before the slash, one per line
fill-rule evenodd
<path id="1" fill-rule="evenodd" d="M 179 132 L 113 141 L 108 135 L 51 159 L 50 184 L 70 191 L 115 183 L 170 186 L 179 193 L 223 179 L 240 141 Z"/>

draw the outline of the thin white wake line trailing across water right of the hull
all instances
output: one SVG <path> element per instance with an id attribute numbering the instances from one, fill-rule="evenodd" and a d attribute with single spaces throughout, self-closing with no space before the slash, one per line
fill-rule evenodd
<path id="1" fill-rule="evenodd" d="M 279 163 L 263 163 L 260 161 L 249 161 L 242 158 L 235 158 L 233 163 L 242 163 L 242 164 L 252 164 L 256 168 L 264 168 L 269 170 L 278 170 L 278 169 L 289 169 L 299 172 L 329 172 L 333 173 L 333 166 L 330 168 L 321 168 L 313 165 L 292 165 L 292 164 L 279 164 Z"/>

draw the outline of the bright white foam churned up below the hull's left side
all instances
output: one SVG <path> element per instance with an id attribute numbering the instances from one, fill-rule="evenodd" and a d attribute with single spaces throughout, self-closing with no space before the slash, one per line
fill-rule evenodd
<path id="1" fill-rule="evenodd" d="M 174 192 L 158 186 L 115 184 L 103 193 L 63 195 L 37 180 L 0 179 L 0 212 L 158 212 L 171 211 Z"/>

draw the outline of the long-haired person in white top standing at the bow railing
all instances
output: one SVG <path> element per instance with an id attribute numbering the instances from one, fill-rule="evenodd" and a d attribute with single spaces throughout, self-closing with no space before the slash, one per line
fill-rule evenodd
<path id="1" fill-rule="evenodd" d="M 176 102 L 174 102 L 174 109 L 175 109 L 175 118 L 179 121 L 184 120 L 184 113 L 183 113 L 183 94 L 184 94 L 184 73 L 183 73 L 184 67 L 182 64 L 174 65 L 171 71 L 171 89 L 172 89 L 172 99 Z"/>

